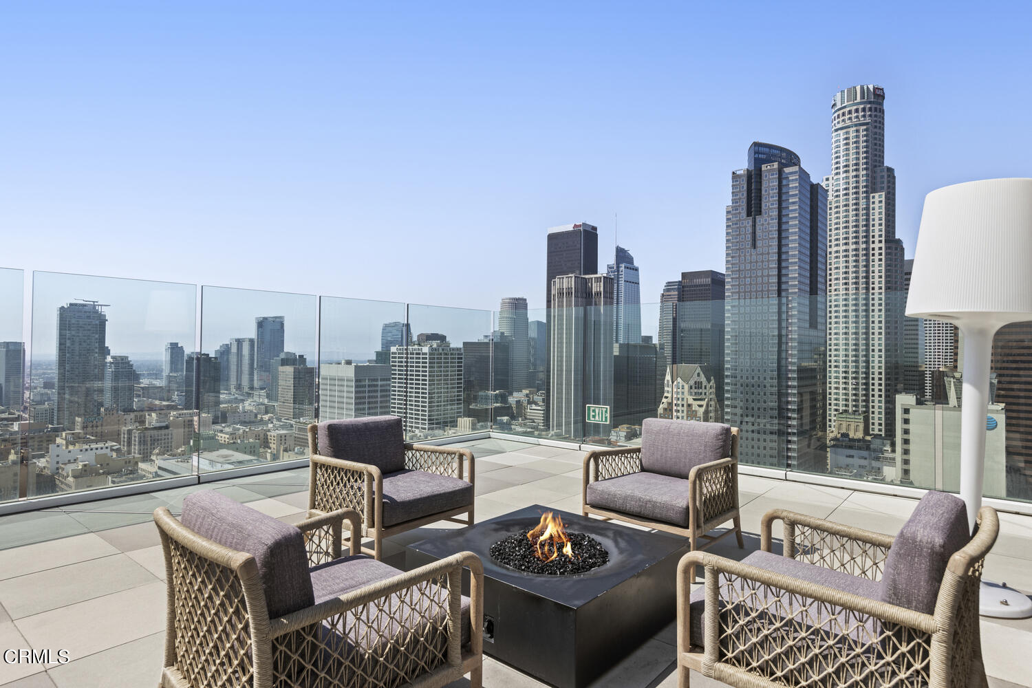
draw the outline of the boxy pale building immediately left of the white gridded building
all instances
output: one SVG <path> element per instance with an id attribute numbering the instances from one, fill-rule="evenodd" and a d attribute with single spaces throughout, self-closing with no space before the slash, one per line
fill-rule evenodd
<path id="1" fill-rule="evenodd" d="M 390 365 L 324 363 L 319 368 L 319 420 L 386 416 L 390 413 Z"/>

